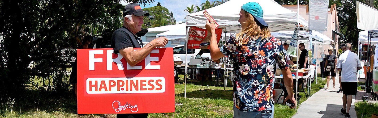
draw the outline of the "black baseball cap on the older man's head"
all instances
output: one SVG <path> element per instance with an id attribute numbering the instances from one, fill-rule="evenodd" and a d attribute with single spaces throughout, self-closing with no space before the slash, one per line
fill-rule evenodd
<path id="1" fill-rule="evenodd" d="M 144 12 L 141 6 L 136 3 L 127 4 L 123 9 L 123 17 L 131 14 L 135 16 L 150 16 L 150 13 Z"/>

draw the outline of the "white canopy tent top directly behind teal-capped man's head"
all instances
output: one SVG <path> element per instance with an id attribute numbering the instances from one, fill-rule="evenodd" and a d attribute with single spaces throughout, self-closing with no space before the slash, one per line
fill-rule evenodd
<path id="1" fill-rule="evenodd" d="M 272 32 L 274 31 L 294 31 L 295 23 L 303 25 L 305 29 L 308 28 L 308 21 L 299 16 L 297 19 L 297 12 L 291 11 L 274 0 L 230 0 L 221 5 L 206 9 L 214 20 L 219 24 L 219 28 L 224 28 L 223 31 L 228 33 L 239 32 L 241 27 L 239 20 L 239 13 L 243 4 L 248 2 L 257 2 L 262 6 L 264 11 L 263 19 L 269 25 Z M 232 7 L 232 8 L 231 8 Z M 186 26 L 197 26 L 204 28 L 207 18 L 203 11 L 188 14 L 186 16 Z"/>

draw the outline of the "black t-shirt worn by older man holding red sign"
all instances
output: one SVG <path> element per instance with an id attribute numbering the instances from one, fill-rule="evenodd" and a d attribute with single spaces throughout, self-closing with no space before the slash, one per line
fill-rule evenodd
<path id="1" fill-rule="evenodd" d="M 114 53 L 118 54 L 118 50 L 127 47 L 140 48 L 143 47 L 138 37 L 136 37 L 129 29 L 122 26 L 115 30 L 112 35 L 112 48 Z"/>

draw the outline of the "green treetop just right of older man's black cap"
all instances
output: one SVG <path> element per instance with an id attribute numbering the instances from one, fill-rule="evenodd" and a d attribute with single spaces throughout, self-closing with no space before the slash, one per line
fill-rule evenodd
<path id="1" fill-rule="evenodd" d="M 168 9 L 163 6 L 144 8 L 143 11 L 150 13 L 149 17 L 144 17 L 143 19 L 143 28 L 153 28 L 176 24 L 176 20 L 173 17 L 173 12 L 169 12 Z"/>

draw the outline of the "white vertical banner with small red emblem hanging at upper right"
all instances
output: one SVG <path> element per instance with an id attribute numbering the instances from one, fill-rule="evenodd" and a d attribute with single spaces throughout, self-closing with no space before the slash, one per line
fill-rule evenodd
<path id="1" fill-rule="evenodd" d="M 328 0 L 310 0 L 308 28 L 315 31 L 327 30 Z"/>

